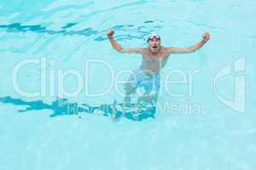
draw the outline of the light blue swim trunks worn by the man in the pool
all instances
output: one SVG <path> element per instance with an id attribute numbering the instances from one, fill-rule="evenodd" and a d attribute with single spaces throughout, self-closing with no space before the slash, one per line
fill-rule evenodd
<path id="1" fill-rule="evenodd" d="M 131 83 L 133 88 L 144 88 L 147 93 L 158 94 L 160 89 L 160 73 L 143 70 L 132 71 L 127 82 Z"/>

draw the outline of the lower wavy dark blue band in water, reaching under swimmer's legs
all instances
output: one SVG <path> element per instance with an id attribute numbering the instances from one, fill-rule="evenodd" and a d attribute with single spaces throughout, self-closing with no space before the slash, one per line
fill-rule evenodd
<path id="1" fill-rule="evenodd" d="M 135 109 L 137 105 L 132 104 L 130 107 L 130 111 L 123 111 L 122 109 L 120 109 L 122 108 L 123 104 L 117 104 L 116 102 L 113 102 L 112 105 L 88 105 L 69 102 L 68 99 L 55 99 L 55 101 L 53 101 L 51 104 L 46 104 L 42 100 L 26 101 L 24 99 L 14 99 L 7 96 L 0 98 L 0 103 L 26 106 L 25 109 L 19 110 L 19 112 L 21 113 L 29 111 L 50 110 L 51 117 L 82 114 L 102 115 L 108 117 L 112 117 L 113 115 L 115 115 L 114 120 L 119 120 L 119 118 L 125 117 L 132 121 L 141 122 L 144 119 L 150 117 L 154 118 L 155 114 L 155 106 L 149 108 L 144 107 L 140 109 Z"/>

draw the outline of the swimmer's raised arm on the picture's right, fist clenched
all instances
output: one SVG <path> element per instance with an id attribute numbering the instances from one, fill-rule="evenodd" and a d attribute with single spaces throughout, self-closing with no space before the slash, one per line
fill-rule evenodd
<path id="1" fill-rule="evenodd" d="M 202 37 L 203 37 L 203 39 L 201 40 L 201 42 L 195 43 L 194 46 L 191 46 L 189 48 L 167 48 L 167 52 L 170 54 L 193 53 L 197 49 L 201 48 L 210 39 L 210 34 L 205 33 Z"/>

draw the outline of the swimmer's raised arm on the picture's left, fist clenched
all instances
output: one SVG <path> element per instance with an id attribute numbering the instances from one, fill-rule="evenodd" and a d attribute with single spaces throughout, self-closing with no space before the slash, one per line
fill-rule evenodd
<path id="1" fill-rule="evenodd" d="M 108 35 L 108 40 L 109 42 L 111 42 L 113 48 L 115 50 L 117 50 L 118 52 L 120 53 L 137 53 L 137 54 L 140 54 L 141 51 L 142 51 L 142 48 L 122 48 L 118 42 L 116 42 L 114 39 L 113 39 L 113 34 L 114 34 L 114 31 L 113 30 L 108 30 L 107 31 L 107 35 Z"/>

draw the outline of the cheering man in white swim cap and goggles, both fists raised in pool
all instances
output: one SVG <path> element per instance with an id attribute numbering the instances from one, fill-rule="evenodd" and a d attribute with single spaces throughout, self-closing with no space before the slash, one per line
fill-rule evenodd
<path id="1" fill-rule="evenodd" d="M 201 48 L 209 39 L 210 34 L 205 33 L 201 42 L 189 48 L 166 48 L 160 44 L 160 36 L 152 33 L 148 37 L 148 48 L 122 48 L 113 38 L 114 31 L 108 30 L 108 39 L 113 48 L 120 53 L 135 53 L 143 55 L 143 62 L 140 69 L 133 71 L 133 74 L 125 83 L 125 104 L 131 102 L 131 94 L 134 94 L 137 88 L 144 88 L 145 93 L 138 99 L 149 104 L 155 104 L 157 94 L 160 89 L 160 69 L 166 65 L 166 61 L 170 54 L 186 54 L 193 53 Z"/>

